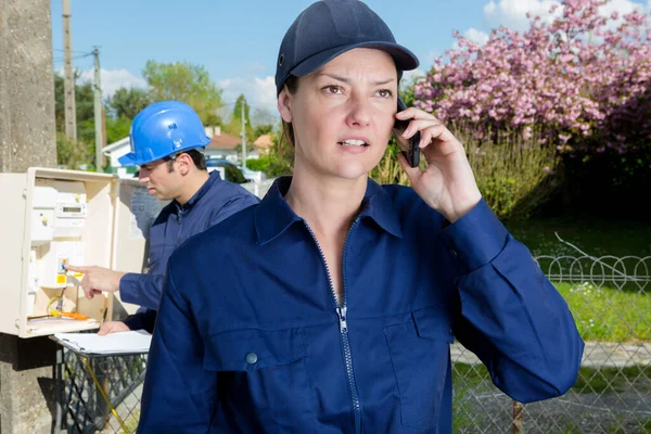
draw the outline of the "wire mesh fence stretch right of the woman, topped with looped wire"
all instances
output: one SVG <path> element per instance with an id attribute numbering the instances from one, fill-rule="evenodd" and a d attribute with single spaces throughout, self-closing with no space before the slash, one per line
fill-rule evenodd
<path id="1" fill-rule="evenodd" d="M 539 256 L 586 342 L 562 397 L 520 405 L 451 348 L 455 433 L 651 433 L 651 257 Z"/>

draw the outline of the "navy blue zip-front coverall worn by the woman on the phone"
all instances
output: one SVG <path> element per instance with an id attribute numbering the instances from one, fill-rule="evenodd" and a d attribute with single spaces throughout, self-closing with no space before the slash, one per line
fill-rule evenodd
<path id="1" fill-rule="evenodd" d="M 574 384 L 567 305 L 484 201 L 447 224 L 369 180 L 339 305 L 290 183 L 173 254 L 138 433 L 450 433 L 454 337 L 522 403 Z"/>

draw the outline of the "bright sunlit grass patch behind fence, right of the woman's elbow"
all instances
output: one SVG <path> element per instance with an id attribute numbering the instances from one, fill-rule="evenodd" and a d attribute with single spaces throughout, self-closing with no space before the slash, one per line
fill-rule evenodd
<path id="1" fill-rule="evenodd" d="M 651 340 L 651 297 L 635 289 L 597 288 L 589 282 L 558 283 L 585 341 Z M 651 290 L 651 288 L 649 288 Z"/>

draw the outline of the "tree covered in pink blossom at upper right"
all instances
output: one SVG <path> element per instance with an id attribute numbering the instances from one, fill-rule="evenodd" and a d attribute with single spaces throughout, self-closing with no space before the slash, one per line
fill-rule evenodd
<path id="1" fill-rule="evenodd" d="M 435 61 L 414 105 L 476 139 L 535 136 L 563 152 L 623 154 L 651 142 L 651 29 L 636 10 L 599 13 L 608 0 L 563 0 L 551 23 L 494 30 Z M 556 7 L 550 13 L 554 13 Z"/>

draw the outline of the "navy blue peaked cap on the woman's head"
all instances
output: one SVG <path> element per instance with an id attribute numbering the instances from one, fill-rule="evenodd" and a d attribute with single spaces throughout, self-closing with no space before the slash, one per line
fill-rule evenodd
<path id="1" fill-rule="evenodd" d="M 276 63 L 276 93 L 290 76 L 309 75 L 355 48 L 387 52 L 400 72 L 419 65 L 418 58 L 396 43 L 388 26 L 363 2 L 321 0 L 303 11 L 282 39 Z"/>

